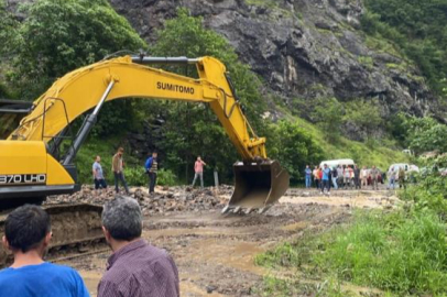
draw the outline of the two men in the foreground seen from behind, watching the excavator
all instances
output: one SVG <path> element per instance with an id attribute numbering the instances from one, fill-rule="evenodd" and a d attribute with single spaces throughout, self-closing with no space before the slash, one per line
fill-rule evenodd
<path id="1" fill-rule="evenodd" d="M 141 238 L 143 221 L 137 200 L 117 197 L 102 210 L 102 231 L 112 250 L 98 285 L 98 297 L 178 297 L 178 271 L 170 254 Z M 4 223 L 4 246 L 13 263 L 0 271 L 0 297 L 88 297 L 72 267 L 44 261 L 52 241 L 50 216 L 39 206 L 12 211 Z"/>

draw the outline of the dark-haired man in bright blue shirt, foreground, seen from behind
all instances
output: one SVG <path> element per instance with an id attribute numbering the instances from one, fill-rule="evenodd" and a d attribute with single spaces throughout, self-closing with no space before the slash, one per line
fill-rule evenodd
<path id="1" fill-rule="evenodd" d="M 4 223 L 3 244 L 14 262 L 0 271 L 0 297 L 88 297 L 79 274 L 43 261 L 52 238 L 50 217 L 37 206 L 12 211 Z"/>

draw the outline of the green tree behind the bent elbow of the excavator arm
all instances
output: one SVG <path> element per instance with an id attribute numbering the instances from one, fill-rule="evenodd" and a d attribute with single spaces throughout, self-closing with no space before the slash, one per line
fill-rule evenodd
<path id="1" fill-rule="evenodd" d="M 247 117 L 254 129 L 265 130 L 261 114 L 265 102 L 260 95 L 260 81 L 250 68 L 238 61 L 238 55 L 228 41 L 208 30 L 203 18 L 190 16 L 186 9 L 178 9 L 177 16 L 168 20 L 157 32 L 156 43 L 150 48 L 151 55 L 160 56 L 214 56 L 229 70 L 237 95 L 247 107 Z M 181 75 L 197 77 L 195 67 L 166 67 Z M 201 155 L 206 162 L 218 168 L 224 182 L 232 176 L 231 166 L 237 158 L 236 150 L 217 117 L 205 105 L 185 102 L 163 102 L 162 108 L 151 105 L 154 113 L 166 120 L 163 127 L 164 139 L 157 146 L 166 152 L 165 165 L 188 179 L 194 160 Z M 185 174 L 183 174 L 185 173 Z M 210 175 L 206 175 L 208 180 Z M 188 180 L 190 182 L 190 180 Z"/>

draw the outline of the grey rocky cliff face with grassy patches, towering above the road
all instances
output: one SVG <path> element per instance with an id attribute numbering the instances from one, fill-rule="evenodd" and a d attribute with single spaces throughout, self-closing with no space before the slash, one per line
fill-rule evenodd
<path id="1" fill-rule="evenodd" d="M 382 116 L 424 116 L 436 98 L 390 43 L 366 36 L 361 0 L 110 0 L 149 42 L 176 8 L 201 15 L 286 100 L 379 99 Z M 306 117 L 306 114 L 302 114 Z"/>

